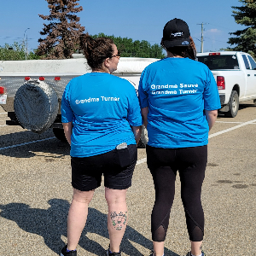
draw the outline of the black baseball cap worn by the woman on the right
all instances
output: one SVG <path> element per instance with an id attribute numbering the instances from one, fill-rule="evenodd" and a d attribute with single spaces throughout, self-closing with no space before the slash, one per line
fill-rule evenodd
<path id="1" fill-rule="evenodd" d="M 189 26 L 184 20 L 173 19 L 166 23 L 163 30 L 163 44 L 166 48 L 174 46 L 189 46 Z"/>

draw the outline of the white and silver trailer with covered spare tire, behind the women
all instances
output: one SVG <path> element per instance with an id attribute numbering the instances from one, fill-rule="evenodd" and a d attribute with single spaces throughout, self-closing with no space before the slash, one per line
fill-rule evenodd
<path id="1" fill-rule="evenodd" d="M 6 125 L 42 133 L 53 128 L 66 141 L 61 125 L 61 97 L 67 83 L 90 67 L 84 55 L 68 60 L 0 61 L 0 106 L 8 112 Z M 120 58 L 114 75 L 127 79 L 137 90 L 143 69 L 158 59 Z M 148 143 L 143 128 L 141 146 Z"/>

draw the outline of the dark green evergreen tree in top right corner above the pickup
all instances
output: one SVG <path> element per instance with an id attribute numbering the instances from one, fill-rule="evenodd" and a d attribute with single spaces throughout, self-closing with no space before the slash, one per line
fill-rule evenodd
<path id="1" fill-rule="evenodd" d="M 237 24 L 247 26 L 245 29 L 230 32 L 236 38 L 229 38 L 228 44 L 235 45 L 228 50 L 239 50 L 247 52 L 253 57 L 256 55 L 256 1 L 239 0 L 242 6 L 232 6 L 233 17 Z"/>

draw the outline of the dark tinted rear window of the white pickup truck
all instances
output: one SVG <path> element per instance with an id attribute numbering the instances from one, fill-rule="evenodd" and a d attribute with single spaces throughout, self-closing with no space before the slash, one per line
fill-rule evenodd
<path id="1" fill-rule="evenodd" d="M 197 56 L 198 61 L 204 63 L 209 69 L 239 69 L 236 55 L 208 55 Z"/>

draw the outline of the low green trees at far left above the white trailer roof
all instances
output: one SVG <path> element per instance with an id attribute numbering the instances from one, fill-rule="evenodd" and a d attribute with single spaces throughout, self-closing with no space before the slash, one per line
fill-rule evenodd
<path id="1" fill-rule="evenodd" d="M 39 56 L 35 52 L 30 52 L 27 55 L 27 60 L 38 59 Z M 1 61 L 24 61 L 25 47 L 24 44 L 14 42 L 14 44 L 4 44 L 0 46 L 0 60 Z"/>

